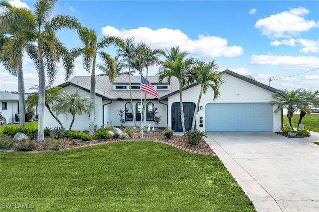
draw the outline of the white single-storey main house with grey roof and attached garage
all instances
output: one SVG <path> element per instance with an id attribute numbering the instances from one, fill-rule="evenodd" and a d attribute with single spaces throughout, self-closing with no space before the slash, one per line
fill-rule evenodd
<path id="1" fill-rule="evenodd" d="M 200 109 L 197 111 L 196 128 L 199 128 L 199 119 L 202 117 L 204 131 L 279 131 L 282 124 L 282 114 L 275 114 L 276 106 L 269 102 L 276 89 L 257 82 L 250 76 L 245 77 L 230 70 L 222 72 L 225 83 L 220 87 L 220 97 L 213 101 L 213 91 L 210 89 L 203 94 Z M 119 109 L 125 110 L 126 123 L 133 126 L 132 109 L 136 116 L 136 125 L 141 125 L 141 91 L 140 76 L 132 76 L 133 108 L 130 104 L 129 77 L 117 76 L 111 84 L 108 77 L 96 77 L 96 113 L 97 128 L 102 124 L 120 126 Z M 150 113 L 153 107 L 158 108 L 157 116 L 161 116 L 159 126 L 169 125 L 175 131 L 182 131 L 178 82 L 172 78 L 170 84 L 164 81 L 158 83 L 158 76 L 149 76 L 159 98 L 147 94 L 146 111 L 143 115 L 143 125 L 155 125 Z M 59 85 L 69 93 L 79 90 L 81 95 L 90 96 L 90 77 L 74 77 L 70 81 Z M 199 85 L 190 85 L 183 89 L 182 99 L 184 106 L 185 128 L 191 127 L 195 104 L 199 96 Z M 144 104 L 145 92 L 142 92 Z M 71 114 L 58 116 L 65 127 L 68 127 Z M 58 126 L 57 121 L 45 111 L 45 126 Z M 72 126 L 74 130 L 89 130 L 89 115 L 77 115 Z"/>

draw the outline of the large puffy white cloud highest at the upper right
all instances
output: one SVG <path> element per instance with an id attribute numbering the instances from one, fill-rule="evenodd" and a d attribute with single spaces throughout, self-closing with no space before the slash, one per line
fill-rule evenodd
<path id="1" fill-rule="evenodd" d="M 293 8 L 289 11 L 270 15 L 259 19 L 255 27 L 261 29 L 263 35 L 268 37 L 286 37 L 298 35 L 300 32 L 308 31 L 313 27 L 318 27 L 314 20 L 306 20 L 305 15 L 309 10 L 304 7 Z"/>

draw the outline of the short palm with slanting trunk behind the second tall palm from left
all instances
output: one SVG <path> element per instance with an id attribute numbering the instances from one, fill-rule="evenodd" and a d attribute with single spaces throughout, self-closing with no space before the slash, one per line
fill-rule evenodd
<path id="1" fill-rule="evenodd" d="M 39 86 L 32 86 L 29 90 L 39 90 Z M 45 87 L 45 103 L 44 105 L 49 110 L 50 114 L 54 117 L 54 119 L 60 124 L 61 127 L 63 127 L 61 121 L 54 115 L 50 108 L 50 104 L 53 104 L 53 101 L 58 101 L 60 98 L 62 88 L 61 87 L 52 87 L 49 86 Z M 28 106 L 36 106 L 39 102 L 39 93 L 34 92 L 28 96 L 26 99 L 26 104 Z"/>

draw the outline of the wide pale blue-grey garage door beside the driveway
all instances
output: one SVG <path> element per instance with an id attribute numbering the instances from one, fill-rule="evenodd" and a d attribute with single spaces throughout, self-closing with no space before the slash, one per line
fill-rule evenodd
<path id="1" fill-rule="evenodd" d="M 272 117 L 269 103 L 211 103 L 206 105 L 206 131 L 269 132 Z"/>

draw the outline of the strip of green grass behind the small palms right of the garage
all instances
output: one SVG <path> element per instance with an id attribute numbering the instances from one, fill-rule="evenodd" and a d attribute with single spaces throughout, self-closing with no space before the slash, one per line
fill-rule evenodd
<path id="1" fill-rule="evenodd" d="M 297 124 L 299 121 L 299 114 L 294 114 L 292 117 L 293 126 L 297 128 Z M 301 121 L 304 124 L 305 129 L 310 129 L 310 131 L 319 132 L 319 114 L 307 114 Z M 284 125 L 289 126 L 289 120 L 287 115 L 284 115 Z"/>

